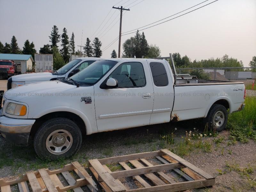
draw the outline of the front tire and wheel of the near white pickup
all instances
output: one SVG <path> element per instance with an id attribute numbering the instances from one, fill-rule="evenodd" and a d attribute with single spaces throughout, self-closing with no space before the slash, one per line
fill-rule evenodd
<path id="1" fill-rule="evenodd" d="M 82 144 L 79 127 L 67 118 L 44 122 L 34 137 L 34 148 L 41 159 L 56 160 L 76 153 Z"/>

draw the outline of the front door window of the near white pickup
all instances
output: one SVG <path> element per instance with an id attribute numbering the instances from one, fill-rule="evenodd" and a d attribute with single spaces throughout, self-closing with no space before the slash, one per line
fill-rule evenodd
<path id="1" fill-rule="evenodd" d="M 144 69 L 139 62 L 123 63 L 109 77 L 117 80 L 118 87 L 141 87 L 146 84 Z"/>

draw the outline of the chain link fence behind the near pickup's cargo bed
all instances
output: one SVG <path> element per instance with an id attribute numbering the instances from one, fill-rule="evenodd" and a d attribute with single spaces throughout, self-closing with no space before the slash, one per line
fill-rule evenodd
<path id="1" fill-rule="evenodd" d="M 195 79 L 244 82 L 247 95 L 256 96 L 256 67 L 176 68 L 177 74 L 189 74 Z"/>

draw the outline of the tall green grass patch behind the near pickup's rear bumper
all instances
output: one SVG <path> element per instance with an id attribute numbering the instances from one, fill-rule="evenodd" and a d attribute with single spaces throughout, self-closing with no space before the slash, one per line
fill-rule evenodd
<path id="1" fill-rule="evenodd" d="M 249 139 L 256 141 L 256 98 L 247 97 L 245 108 L 232 113 L 228 117 L 227 128 L 230 130 L 231 141 L 246 143 Z"/>

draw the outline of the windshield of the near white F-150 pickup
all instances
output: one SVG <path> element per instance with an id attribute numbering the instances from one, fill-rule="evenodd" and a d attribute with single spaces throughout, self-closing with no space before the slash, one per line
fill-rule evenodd
<path id="1" fill-rule="evenodd" d="M 98 60 L 89 65 L 84 70 L 73 75 L 72 78 L 78 83 L 94 85 L 97 83 L 112 67 L 116 65 L 117 61 Z"/>

